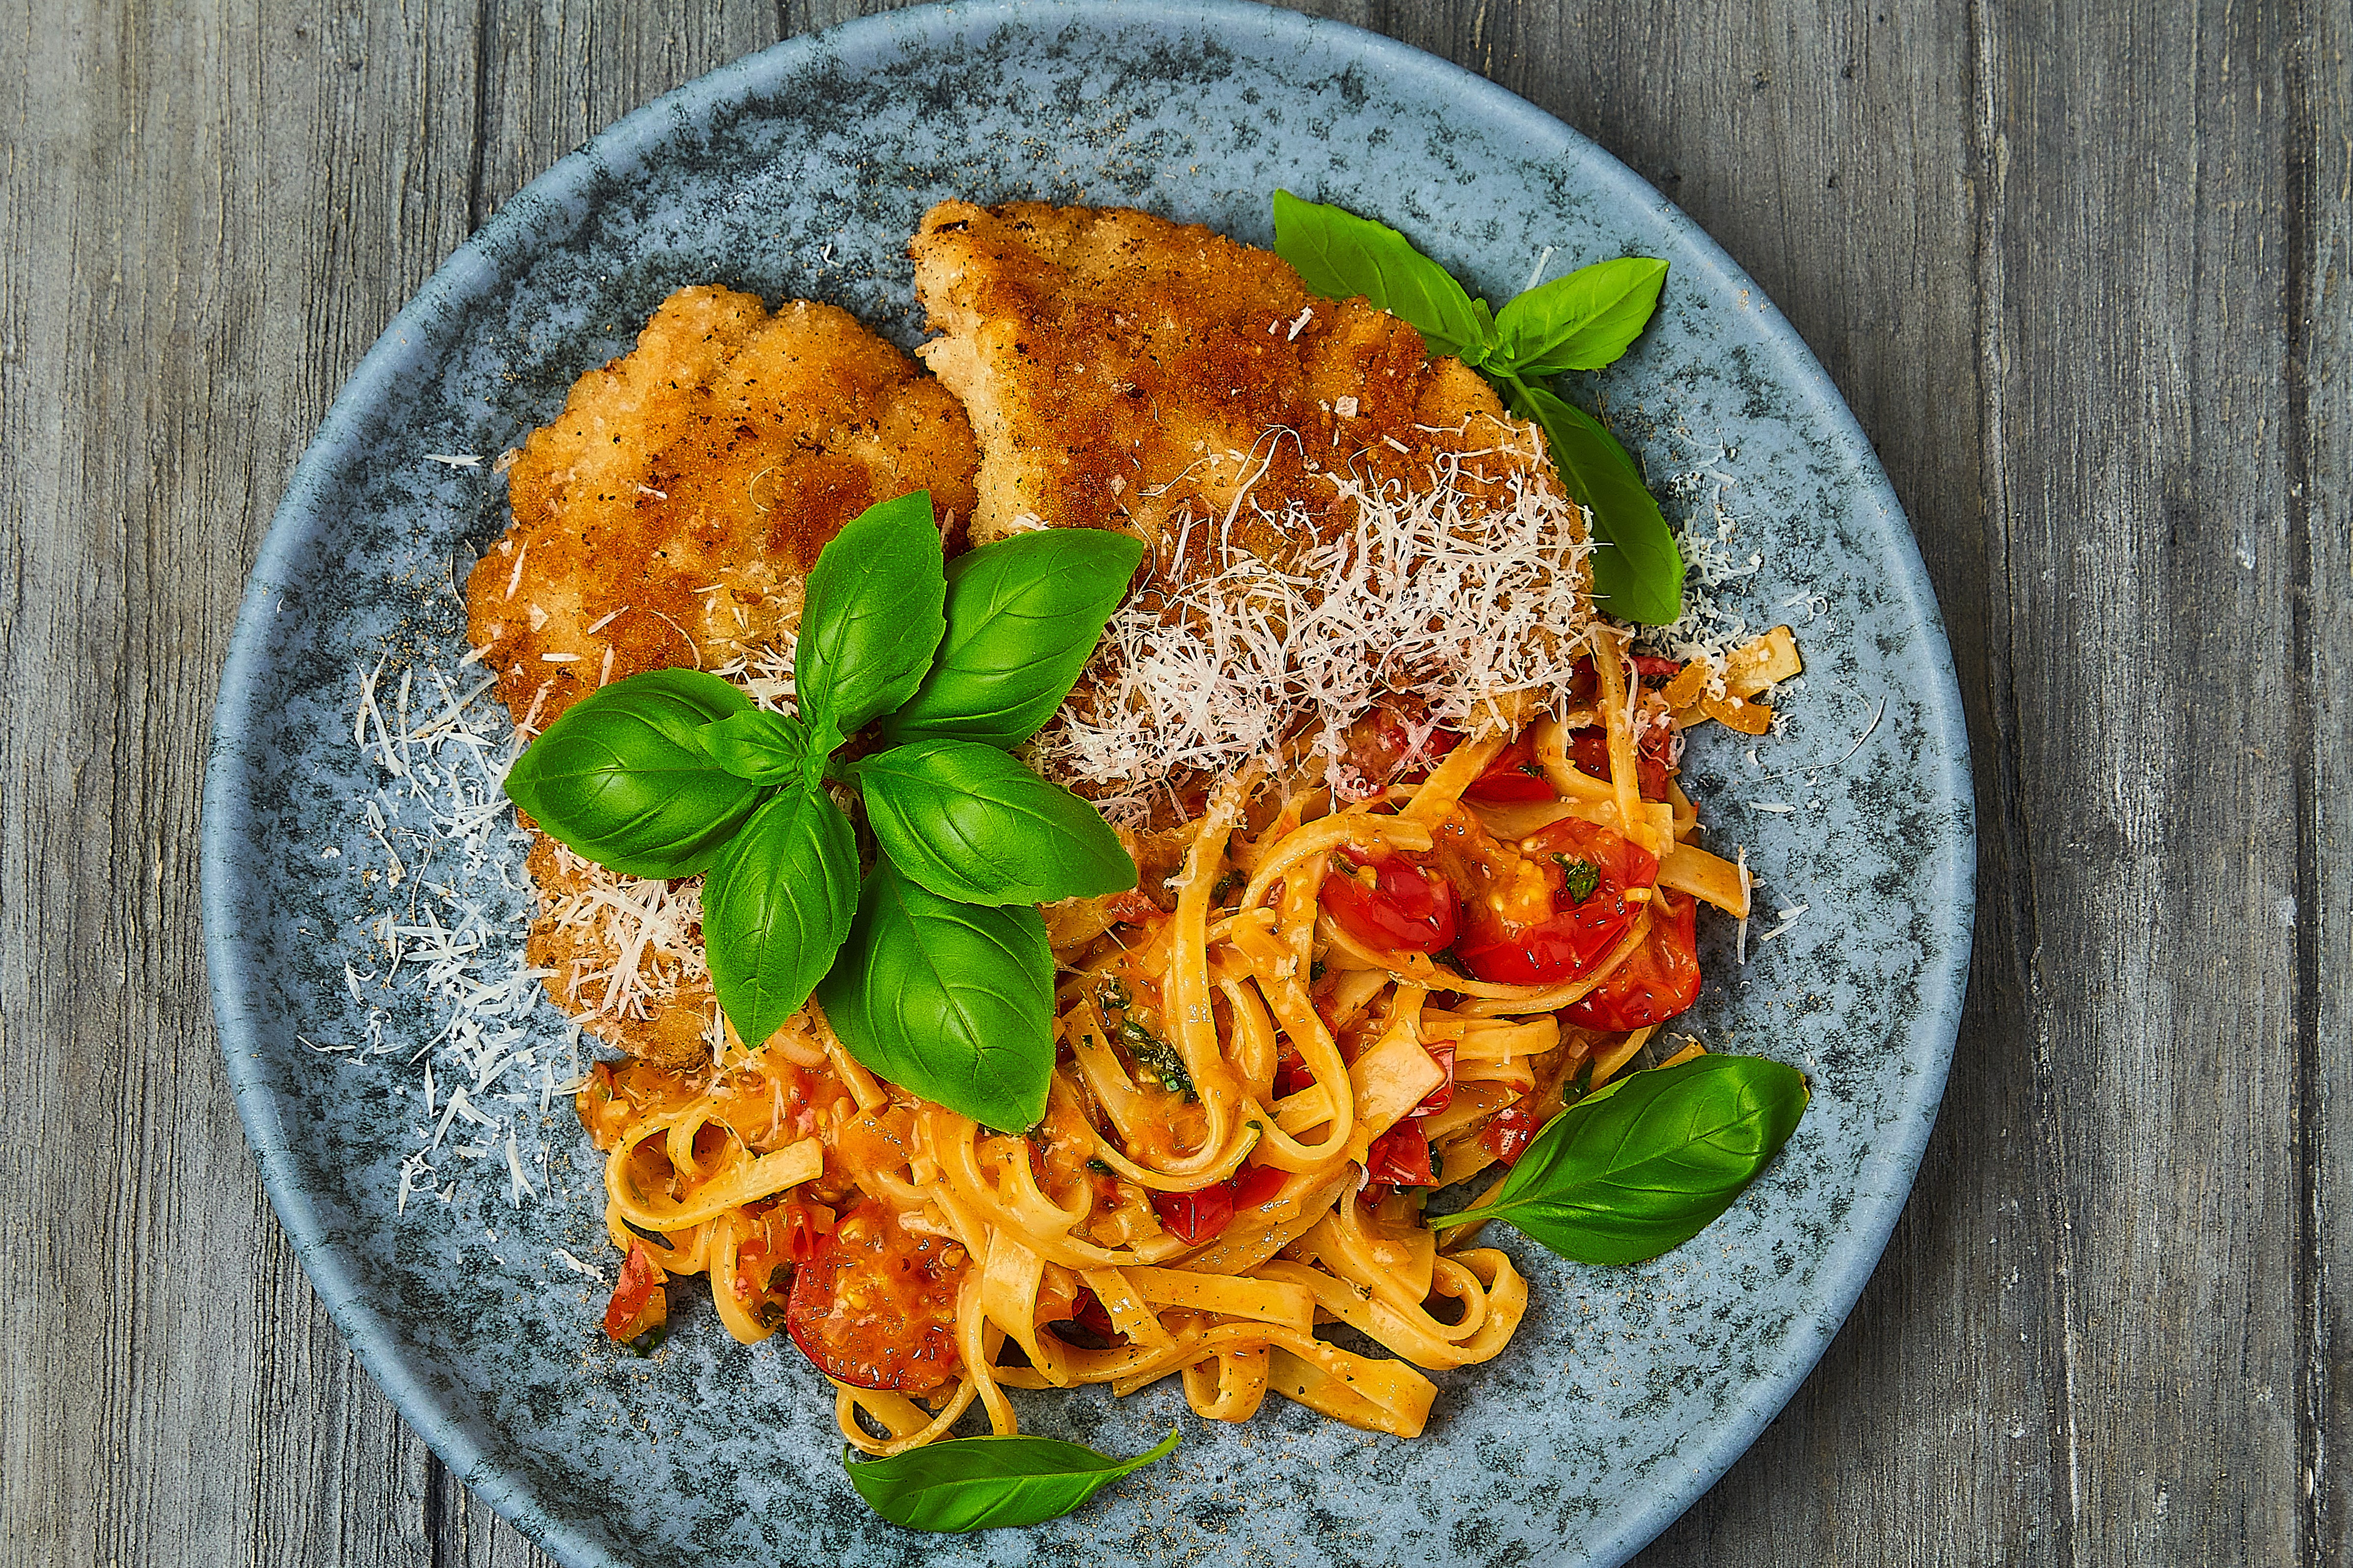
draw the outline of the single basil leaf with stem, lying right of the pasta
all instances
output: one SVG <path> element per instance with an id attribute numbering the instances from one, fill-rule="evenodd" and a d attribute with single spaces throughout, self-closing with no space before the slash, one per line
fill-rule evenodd
<path id="1" fill-rule="evenodd" d="M 1572 1262 L 1657 1258 L 1732 1206 L 1805 1100 L 1805 1077 L 1762 1056 L 1633 1072 L 1553 1117 L 1492 1201 L 1431 1227 L 1511 1220 Z"/>

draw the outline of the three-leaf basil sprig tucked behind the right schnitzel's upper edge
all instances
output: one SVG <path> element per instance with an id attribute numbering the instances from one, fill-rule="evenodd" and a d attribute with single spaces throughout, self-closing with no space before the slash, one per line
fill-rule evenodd
<path id="1" fill-rule="evenodd" d="M 1664 261 L 1595 261 L 1492 310 L 1386 223 L 1289 190 L 1275 190 L 1275 254 L 1315 294 L 1365 296 L 1417 327 L 1435 353 L 1485 371 L 1513 414 L 1537 421 L 1562 482 L 1593 515 L 1602 545 L 1593 597 L 1621 621 L 1666 625 L 1682 616 L 1682 550 L 1642 470 L 1600 421 L 1537 386 L 1624 355 L 1659 308 Z"/>

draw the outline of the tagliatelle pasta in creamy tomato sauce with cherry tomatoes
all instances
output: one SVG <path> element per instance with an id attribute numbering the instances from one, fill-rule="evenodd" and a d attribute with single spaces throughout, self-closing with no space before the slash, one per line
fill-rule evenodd
<path id="1" fill-rule="evenodd" d="M 1167 898 L 1049 910 L 1035 1128 L 875 1079 L 816 1006 L 711 1067 L 598 1067 L 579 1112 L 628 1253 L 607 1328 L 706 1274 L 732 1335 L 786 1328 L 826 1371 L 871 1455 L 974 1403 L 1014 1432 L 1009 1389 L 1172 1375 L 1209 1420 L 1273 1392 L 1419 1434 L 1424 1373 L 1489 1361 L 1527 1309 L 1426 1194 L 1515 1159 L 1689 1004 L 1694 898 L 1748 912 L 1673 783 L 1692 689 L 1600 628 L 1555 712 L 1367 799 L 1320 764 L 1228 776 L 1169 835 Z"/>

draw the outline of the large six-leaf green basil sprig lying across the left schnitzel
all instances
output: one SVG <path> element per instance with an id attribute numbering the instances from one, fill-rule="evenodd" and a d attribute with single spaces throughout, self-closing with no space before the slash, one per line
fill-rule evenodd
<path id="1" fill-rule="evenodd" d="M 711 985 L 746 1044 L 816 992 L 882 1077 L 986 1126 L 1031 1126 L 1054 1070 L 1054 971 L 1031 905 L 1129 889 L 1136 865 L 1094 806 L 1002 748 L 1071 691 L 1141 550 L 1054 529 L 944 571 L 929 494 L 885 501 L 809 571 L 800 715 L 699 670 L 631 675 L 555 719 L 506 792 L 600 865 L 708 870 Z M 838 769 L 831 752 L 882 715 L 904 745 Z M 866 797 L 880 858 L 864 896 L 828 778 Z"/>

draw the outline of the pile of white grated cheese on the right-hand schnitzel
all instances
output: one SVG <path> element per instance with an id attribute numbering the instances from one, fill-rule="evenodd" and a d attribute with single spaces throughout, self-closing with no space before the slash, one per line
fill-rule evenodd
<path id="1" fill-rule="evenodd" d="M 1386 693 L 1419 698 L 1428 724 L 1449 729 L 1475 729 L 1520 696 L 1548 698 L 1593 621 L 1591 545 L 1581 508 L 1537 477 L 1539 440 L 1499 425 L 1499 444 L 1440 454 L 1419 487 L 1320 470 L 1351 522 L 1289 569 L 1233 543 L 1245 505 L 1292 538 L 1322 531 L 1299 498 L 1282 510 L 1257 501 L 1271 456 L 1259 461 L 1221 520 L 1179 527 L 1172 557 L 1207 545 L 1207 569 L 1111 618 L 1085 701 L 1040 733 L 1035 766 L 1111 788 L 1096 806 L 1134 825 L 1167 773 L 1280 766 L 1301 741 L 1337 792 L 1362 792 L 1344 762 L 1346 729 Z M 1501 501 L 1464 484 L 1497 489 L 1482 458 L 1501 458 Z"/>

